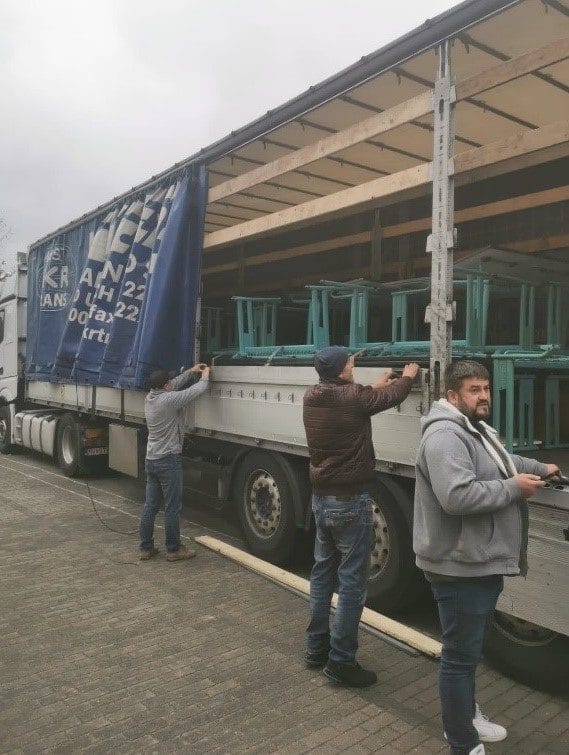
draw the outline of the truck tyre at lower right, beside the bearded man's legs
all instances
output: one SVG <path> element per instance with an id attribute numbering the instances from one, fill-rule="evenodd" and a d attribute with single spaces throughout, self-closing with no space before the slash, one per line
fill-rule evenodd
<path id="1" fill-rule="evenodd" d="M 500 671 L 531 687 L 566 692 L 569 637 L 496 611 L 484 654 Z"/>

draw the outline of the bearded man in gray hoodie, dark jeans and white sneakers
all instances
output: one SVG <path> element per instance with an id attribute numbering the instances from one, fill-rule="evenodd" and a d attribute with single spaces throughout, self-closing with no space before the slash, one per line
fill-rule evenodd
<path id="1" fill-rule="evenodd" d="M 482 755 L 481 742 L 507 736 L 476 704 L 476 667 L 504 575 L 527 573 L 526 499 L 560 473 L 502 446 L 485 422 L 489 379 L 478 362 L 447 368 L 446 399 L 422 420 L 417 455 L 413 546 L 439 610 L 439 693 L 453 755 Z"/>

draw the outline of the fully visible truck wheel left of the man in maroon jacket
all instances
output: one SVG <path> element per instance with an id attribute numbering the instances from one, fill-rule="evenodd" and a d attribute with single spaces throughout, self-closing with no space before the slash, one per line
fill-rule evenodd
<path id="1" fill-rule="evenodd" d="M 293 488 L 276 454 L 253 451 L 237 471 L 234 496 L 252 553 L 274 564 L 290 560 L 296 526 Z"/>

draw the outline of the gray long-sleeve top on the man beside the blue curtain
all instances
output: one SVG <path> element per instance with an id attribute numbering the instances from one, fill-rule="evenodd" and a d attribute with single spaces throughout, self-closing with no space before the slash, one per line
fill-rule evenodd
<path id="1" fill-rule="evenodd" d="M 186 370 L 172 379 L 172 390 L 152 389 L 144 402 L 144 414 L 148 426 L 146 458 L 161 459 L 170 454 L 182 453 L 184 440 L 184 410 L 204 393 L 209 379 L 201 380 L 184 388 L 194 373 Z"/>

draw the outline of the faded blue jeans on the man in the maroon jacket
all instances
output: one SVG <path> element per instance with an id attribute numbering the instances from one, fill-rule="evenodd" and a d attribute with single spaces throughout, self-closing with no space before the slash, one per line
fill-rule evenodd
<path id="1" fill-rule="evenodd" d="M 367 590 L 372 543 L 373 501 L 367 494 L 339 499 L 313 495 L 316 521 L 314 566 L 310 574 L 308 653 L 330 646 L 329 658 L 354 661 L 358 625 Z M 338 581 L 338 606 L 330 633 L 330 605 Z"/>

